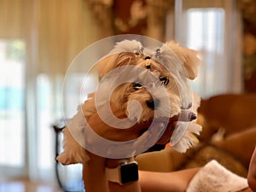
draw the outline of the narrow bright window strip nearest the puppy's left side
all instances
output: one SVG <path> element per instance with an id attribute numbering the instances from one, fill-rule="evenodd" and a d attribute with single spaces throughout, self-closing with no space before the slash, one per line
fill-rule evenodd
<path id="1" fill-rule="evenodd" d="M 37 151 L 38 167 L 40 169 L 49 170 L 53 168 L 54 161 L 54 141 L 52 139 L 53 129 L 50 129 L 53 124 L 55 105 L 54 94 L 52 94 L 52 86 L 49 78 L 44 75 L 38 75 L 37 78 Z"/>

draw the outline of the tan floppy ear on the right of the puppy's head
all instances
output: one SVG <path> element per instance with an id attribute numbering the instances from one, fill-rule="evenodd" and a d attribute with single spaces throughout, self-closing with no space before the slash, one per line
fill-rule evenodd
<path id="1" fill-rule="evenodd" d="M 201 64 L 197 52 L 193 49 L 182 47 L 173 41 L 166 43 L 166 46 L 172 49 L 179 60 L 183 62 L 189 75 L 189 79 L 195 79 L 198 75 L 198 67 Z"/>

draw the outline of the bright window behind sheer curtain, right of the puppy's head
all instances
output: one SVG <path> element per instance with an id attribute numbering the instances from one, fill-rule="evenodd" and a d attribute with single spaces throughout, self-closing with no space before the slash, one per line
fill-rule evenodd
<path id="1" fill-rule="evenodd" d="M 187 45 L 200 52 L 201 75 L 192 84 L 201 96 L 212 96 L 227 90 L 224 42 L 224 9 L 188 9 Z M 218 79 L 216 79 L 218 73 Z"/>

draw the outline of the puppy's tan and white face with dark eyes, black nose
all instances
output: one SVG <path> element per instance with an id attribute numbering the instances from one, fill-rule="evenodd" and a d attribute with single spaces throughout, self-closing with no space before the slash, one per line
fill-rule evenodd
<path id="1" fill-rule="evenodd" d="M 131 75 L 131 82 L 117 86 L 111 95 L 111 102 L 119 106 L 128 119 L 138 122 L 153 118 L 172 118 L 180 112 L 180 96 L 177 84 L 160 62 L 148 55 L 122 53 L 118 56 L 130 65 L 125 74 Z M 134 68 L 133 68 L 134 67 Z M 131 74 L 133 73 L 133 74 Z"/>

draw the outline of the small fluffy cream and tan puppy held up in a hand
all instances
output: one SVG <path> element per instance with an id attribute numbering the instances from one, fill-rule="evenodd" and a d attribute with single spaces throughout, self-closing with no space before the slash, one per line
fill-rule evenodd
<path id="1" fill-rule="evenodd" d="M 89 119 L 109 102 L 124 112 L 127 121 L 120 121 L 119 125 L 122 126 L 126 126 L 124 122 L 128 122 L 129 127 L 154 119 L 167 120 L 166 131 L 158 138 L 158 142 L 166 143 L 172 134 L 176 135 L 171 141 L 178 151 L 184 152 L 197 142 L 194 134 L 199 134 L 201 126 L 194 122 L 180 124 L 174 131 L 168 130 L 168 127 L 173 129 L 169 124 L 177 125 L 179 120 L 189 122 L 196 118 L 200 98 L 189 89 L 188 81 L 197 77 L 200 63 L 195 50 L 174 42 L 163 44 L 157 49 L 148 49 L 136 40 L 123 40 L 96 63 L 100 84 L 81 106 L 80 113 Z M 111 109 L 107 109 L 107 116 L 103 114 L 102 118 L 106 121 L 110 119 L 108 123 L 111 124 L 115 120 L 108 115 L 112 113 Z M 77 119 L 81 118 L 80 115 Z M 88 160 L 86 150 L 73 138 L 70 129 L 65 128 L 63 133 L 64 151 L 57 160 L 63 165 Z"/>

